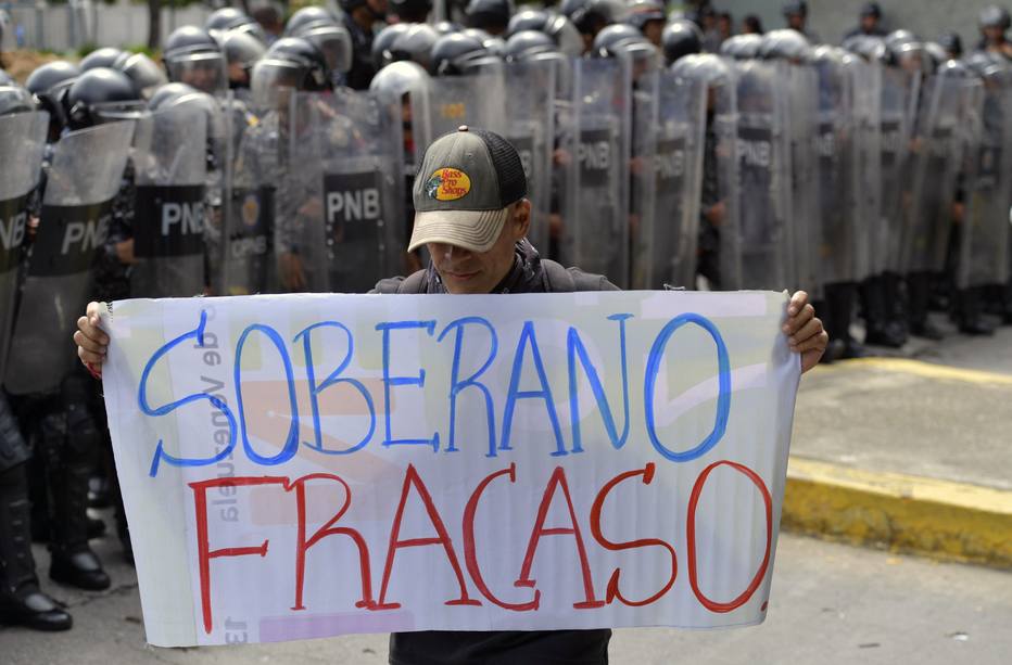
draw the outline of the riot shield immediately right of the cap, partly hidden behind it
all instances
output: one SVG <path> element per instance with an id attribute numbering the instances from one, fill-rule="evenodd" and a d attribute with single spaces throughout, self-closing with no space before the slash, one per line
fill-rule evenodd
<path id="1" fill-rule="evenodd" d="M 549 242 L 556 71 L 557 63 L 542 61 L 510 63 L 504 74 L 509 113 L 503 136 L 523 164 L 532 214 L 528 239 L 542 253 Z"/>

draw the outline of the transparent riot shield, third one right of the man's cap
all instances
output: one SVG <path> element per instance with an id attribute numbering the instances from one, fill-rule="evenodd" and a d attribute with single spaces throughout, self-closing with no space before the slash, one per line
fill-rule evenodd
<path id="1" fill-rule="evenodd" d="M 695 283 L 706 132 L 706 87 L 670 72 L 633 93 L 633 289 Z"/>

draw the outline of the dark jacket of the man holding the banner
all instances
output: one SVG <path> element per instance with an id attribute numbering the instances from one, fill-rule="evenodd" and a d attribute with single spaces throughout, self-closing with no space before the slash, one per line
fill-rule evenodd
<path id="1" fill-rule="evenodd" d="M 618 291 L 599 274 L 543 259 L 526 239 L 513 269 L 492 293 Z M 382 280 L 374 293 L 446 293 L 430 264 L 407 278 Z M 392 665 L 603 665 L 611 630 L 425 630 L 390 634 Z"/>

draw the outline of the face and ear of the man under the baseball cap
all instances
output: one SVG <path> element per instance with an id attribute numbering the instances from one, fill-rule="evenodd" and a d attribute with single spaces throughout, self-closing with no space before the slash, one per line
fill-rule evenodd
<path id="1" fill-rule="evenodd" d="M 446 291 L 454 295 L 491 293 L 509 273 L 514 246 L 530 227 L 531 203 L 524 199 L 509 207 L 503 232 L 488 252 L 471 252 L 445 243 L 426 245 Z"/>

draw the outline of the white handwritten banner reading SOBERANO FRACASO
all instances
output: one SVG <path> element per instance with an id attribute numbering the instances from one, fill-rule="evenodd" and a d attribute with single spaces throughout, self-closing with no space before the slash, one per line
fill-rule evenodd
<path id="1" fill-rule="evenodd" d="M 148 641 L 763 619 L 783 293 L 125 300 Z"/>

